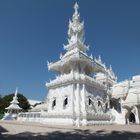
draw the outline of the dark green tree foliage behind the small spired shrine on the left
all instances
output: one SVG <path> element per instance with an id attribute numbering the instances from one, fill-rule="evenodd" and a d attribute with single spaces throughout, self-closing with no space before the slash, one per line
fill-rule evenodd
<path id="1" fill-rule="evenodd" d="M 4 97 L 0 97 L 0 114 L 6 112 L 5 108 L 10 105 L 10 102 L 13 100 L 14 94 L 9 94 Z M 30 104 L 25 96 L 18 93 L 18 101 L 19 106 L 23 109 L 23 111 L 27 111 L 30 109 Z"/>

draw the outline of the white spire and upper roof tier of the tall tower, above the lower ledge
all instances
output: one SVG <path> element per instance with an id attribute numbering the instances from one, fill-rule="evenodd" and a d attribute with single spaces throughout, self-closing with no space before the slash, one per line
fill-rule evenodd
<path id="1" fill-rule="evenodd" d="M 86 64 L 90 73 L 105 72 L 105 65 L 87 54 L 89 47 L 84 43 L 84 22 L 80 22 L 78 8 L 79 6 L 76 3 L 72 20 L 69 21 L 68 44 L 64 45 L 66 53 L 63 56 L 60 55 L 59 61 L 54 63 L 48 62 L 48 69 L 65 73 L 64 67 L 68 69 L 71 63 L 80 61 L 80 63 Z"/>

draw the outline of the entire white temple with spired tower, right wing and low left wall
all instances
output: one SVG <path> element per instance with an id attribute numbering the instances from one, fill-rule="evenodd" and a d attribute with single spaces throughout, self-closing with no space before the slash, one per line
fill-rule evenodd
<path id="1" fill-rule="evenodd" d="M 18 120 L 75 126 L 139 124 L 140 76 L 117 83 L 111 66 L 107 68 L 100 56 L 88 55 L 78 8 L 76 3 L 65 54 L 57 62 L 48 62 L 48 69 L 58 75 L 46 83 L 47 103 L 19 114 Z"/>

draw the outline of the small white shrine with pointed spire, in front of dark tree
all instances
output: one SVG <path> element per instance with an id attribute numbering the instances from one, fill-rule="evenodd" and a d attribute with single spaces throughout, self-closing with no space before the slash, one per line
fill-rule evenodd
<path id="1" fill-rule="evenodd" d="M 18 91 L 16 89 L 15 94 L 13 96 L 13 100 L 10 102 L 10 105 L 5 108 L 7 110 L 7 113 L 5 113 L 2 120 L 15 120 L 17 118 L 17 115 L 22 108 L 19 107 L 18 97 L 17 97 Z"/>

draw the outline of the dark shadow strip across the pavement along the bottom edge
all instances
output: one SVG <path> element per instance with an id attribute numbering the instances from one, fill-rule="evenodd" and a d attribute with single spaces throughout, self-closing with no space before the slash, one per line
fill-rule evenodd
<path id="1" fill-rule="evenodd" d="M 105 130 L 91 132 L 90 130 L 75 129 L 70 132 L 54 131 L 51 133 L 31 133 L 24 132 L 16 135 L 2 135 L 0 140 L 140 140 L 140 132 L 133 133 L 127 131 Z"/>

